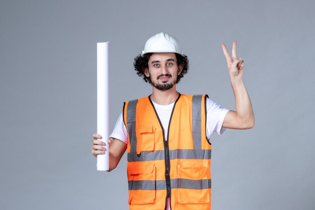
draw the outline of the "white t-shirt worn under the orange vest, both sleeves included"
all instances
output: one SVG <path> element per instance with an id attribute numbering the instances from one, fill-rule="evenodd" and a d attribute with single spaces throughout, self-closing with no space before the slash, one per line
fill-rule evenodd
<path id="1" fill-rule="evenodd" d="M 153 102 L 154 108 L 157 112 L 157 115 L 159 115 L 159 118 L 164 129 L 165 139 L 167 139 L 166 136 L 168 135 L 168 127 L 174 104 L 175 103 L 169 105 L 160 105 Z M 209 139 L 212 132 L 216 132 L 219 135 L 221 135 L 224 132 L 225 128 L 222 127 L 222 124 L 224 117 L 229 110 L 223 108 L 221 105 L 215 103 L 209 98 L 206 99 L 206 107 L 207 107 L 206 135 L 207 138 Z M 117 138 L 120 141 L 128 144 L 128 132 L 122 118 L 122 113 L 120 113 L 110 137 Z"/>

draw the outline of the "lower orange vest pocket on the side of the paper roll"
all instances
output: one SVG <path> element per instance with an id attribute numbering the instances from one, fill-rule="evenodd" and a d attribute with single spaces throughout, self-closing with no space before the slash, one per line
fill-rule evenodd
<path id="1" fill-rule="evenodd" d="M 155 167 L 153 162 L 128 163 L 129 204 L 145 205 L 155 201 Z M 133 165 L 133 166 L 130 166 Z"/>

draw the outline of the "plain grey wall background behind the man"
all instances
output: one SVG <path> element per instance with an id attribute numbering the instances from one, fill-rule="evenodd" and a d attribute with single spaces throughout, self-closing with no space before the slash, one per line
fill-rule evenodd
<path id="1" fill-rule="evenodd" d="M 110 41 L 110 127 L 151 87 L 133 71 L 147 38 L 190 58 L 178 85 L 234 109 L 226 62 L 238 41 L 256 125 L 212 135 L 212 209 L 315 209 L 314 1 L 0 1 L 0 208 L 128 209 L 126 156 L 91 155 L 96 43 Z"/>

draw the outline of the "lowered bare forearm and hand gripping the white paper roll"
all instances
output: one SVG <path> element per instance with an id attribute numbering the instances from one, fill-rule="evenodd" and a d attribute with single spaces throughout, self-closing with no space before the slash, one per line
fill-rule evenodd
<path id="1" fill-rule="evenodd" d="M 102 139 L 102 136 L 94 133 L 93 134 L 93 142 L 92 142 L 92 154 L 97 157 L 99 154 L 105 153 L 105 148 L 102 147 L 105 145 L 104 142 L 99 141 L 98 139 Z M 121 157 L 124 155 L 127 145 L 120 141 L 117 138 L 110 138 L 108 140 L 109 143 L 109 170 L 112 171 L 115 169 L 121 159 Z"/>

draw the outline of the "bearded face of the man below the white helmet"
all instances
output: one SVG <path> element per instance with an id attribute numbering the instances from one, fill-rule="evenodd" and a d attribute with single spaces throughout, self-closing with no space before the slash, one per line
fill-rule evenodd
<path id="1" fill-rule="evenodd" d="M 156 89 L 169 90 L 176 84 L 182 69 L 183 66 L 177 65 L 175 53 L 157 52 L 150 56 L 144 75 L 150 77 L 152 86 Z"/>

